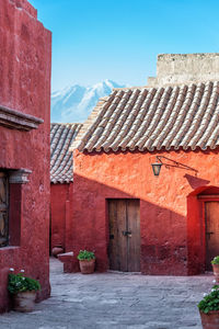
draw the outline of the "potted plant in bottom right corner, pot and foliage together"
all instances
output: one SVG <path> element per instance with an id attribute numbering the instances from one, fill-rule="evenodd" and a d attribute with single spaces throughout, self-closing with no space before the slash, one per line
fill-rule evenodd
<path id="1" fill-rule="evenodd" d="M 219 285 L 214 285 L 209 294 L 198 304 L 204 329 L 219 328 Z"/>

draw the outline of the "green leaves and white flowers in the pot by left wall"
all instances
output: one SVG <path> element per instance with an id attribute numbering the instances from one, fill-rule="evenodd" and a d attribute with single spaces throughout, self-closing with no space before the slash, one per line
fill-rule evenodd
<path id="1" fill-rule="evenodd" d="M 13 269 L 12 269 L 13 270 Z M 8 291 L 11 294 L 18 294 L 27 291 L 41 290 L 41 284 L 37 280 L 23 275 L 23 270 L 19 274 L 10 273 L 8 277 Z"/>

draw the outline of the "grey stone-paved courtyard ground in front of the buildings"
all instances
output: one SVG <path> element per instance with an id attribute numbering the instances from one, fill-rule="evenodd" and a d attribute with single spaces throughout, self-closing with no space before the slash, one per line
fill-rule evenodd
<path id="1" fill-rule="evenodd" d="M 0 316 L 1 329 L 197 329 L 197 302 L 212 275 L 64 274 L 51 259 L 51 297 L 35 311 Z"/>

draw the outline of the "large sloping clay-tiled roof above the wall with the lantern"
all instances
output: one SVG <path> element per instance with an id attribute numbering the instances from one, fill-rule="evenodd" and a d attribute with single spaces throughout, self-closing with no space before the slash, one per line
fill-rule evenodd
<path id="1" fill-rule="evenodd" d="M 219 146 L 219 82 L 117 89 L 101 99 L 71 149 L 153 151 Z"/>

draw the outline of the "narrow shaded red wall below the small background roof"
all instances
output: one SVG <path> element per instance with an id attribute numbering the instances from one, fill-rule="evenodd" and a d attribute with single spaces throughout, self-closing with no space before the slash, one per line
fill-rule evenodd
<path id="1" fill-rule="evenodd" d="M 50 185 L 50 248 L 66 249 L 66 234 L 72 213 L 73 183 Z M 71 208 L 71 209 L 70 209 Z"/>

